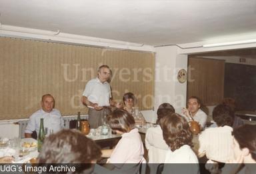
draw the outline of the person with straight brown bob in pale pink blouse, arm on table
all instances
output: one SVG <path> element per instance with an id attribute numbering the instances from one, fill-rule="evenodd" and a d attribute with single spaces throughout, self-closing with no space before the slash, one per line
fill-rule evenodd
<path id="1" fill-rule="evenodd" d="M 143 143 L 133 116 L 124 109 L 116 109 L 109 117 L 109 125 L 122 138 L 115 149 L 102 150 L 102 157 L 109 157 L 107 163 L 111 163 L 106 167 L 123 173 L 135 173 L 139 169 L 138 164 L 144 163 L 145 159 Z"/>

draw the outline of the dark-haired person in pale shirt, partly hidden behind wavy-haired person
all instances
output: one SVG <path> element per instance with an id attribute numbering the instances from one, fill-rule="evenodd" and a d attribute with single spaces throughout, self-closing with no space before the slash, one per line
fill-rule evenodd
<path id="1" fill-rule="evenodd" d="M 159 126 L 159 121 L 169 113 L 175 113 L 173 106 L 169 103 L 162 103 L 157 109 L 157 126 L 147 129 L 145 145 L 149 151 L 149 163 L 163 163 L 165 161 L 169 147 L 163 139 L 163 131 Z"/>

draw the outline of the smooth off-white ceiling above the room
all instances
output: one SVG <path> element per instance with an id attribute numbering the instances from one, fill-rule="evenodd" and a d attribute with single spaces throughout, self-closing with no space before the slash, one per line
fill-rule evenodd
<path id="1" fill-rule="evenodd" d="M 147 45 L 256 38 L 256 1 L 0 0 L 1 25 Z"/>

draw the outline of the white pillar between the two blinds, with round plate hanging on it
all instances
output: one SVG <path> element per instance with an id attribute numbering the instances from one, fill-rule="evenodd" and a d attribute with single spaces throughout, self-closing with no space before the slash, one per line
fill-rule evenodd
<path id="1" fill-rule="evenodd" d="M 165 102 L 171 103 L 177 113 L 185 107 L 187 83 L 177 81 L 177 72 L 187 70 L 187 55 L 177 55 L 178 49 L 176 46 L 156 48 L 155 112 Z"/>

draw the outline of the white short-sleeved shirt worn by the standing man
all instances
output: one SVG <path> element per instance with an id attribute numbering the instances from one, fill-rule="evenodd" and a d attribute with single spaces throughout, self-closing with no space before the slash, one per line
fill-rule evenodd
<path id="1" fill-rule="evenodd" d="M 97 103 L 99 106 L 109 106 L 109 99 L 111 98 L 110 85 L 107 81 L 101 83 L 99 78 L 91 79 L 85 86 L 83 96 L 87 97 L 91 103 Z"/>

